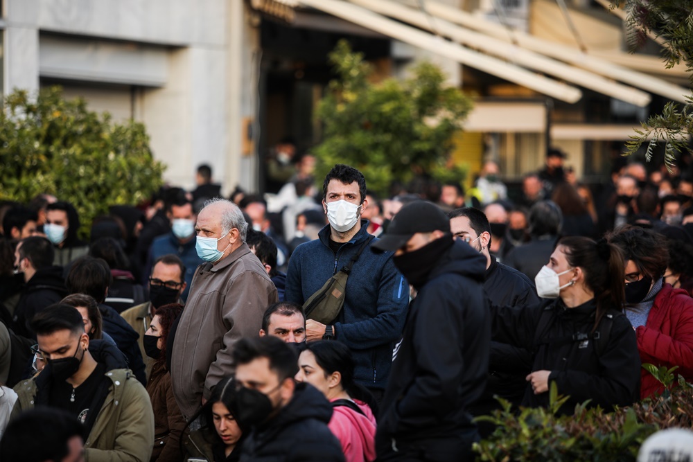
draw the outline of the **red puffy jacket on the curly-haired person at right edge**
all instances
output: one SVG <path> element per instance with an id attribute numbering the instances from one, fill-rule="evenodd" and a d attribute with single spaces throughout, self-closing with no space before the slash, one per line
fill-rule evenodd
<path id="1" fill-rule="evenodd" d="M 642 364 L 678 366 L 674 375 L 693 382 L 693 299 L 685 290 L 665 284 L 654 299 L 647 323 L 635 329 Z M 663 386 L 645 369 L 640 398 L 661 393 Z"/>

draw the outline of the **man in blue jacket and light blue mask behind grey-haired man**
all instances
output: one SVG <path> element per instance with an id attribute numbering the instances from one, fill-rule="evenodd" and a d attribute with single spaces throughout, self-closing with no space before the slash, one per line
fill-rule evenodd
<path id="1" fill-rule="evenodd" d="M 155 238 L 149 251 L 148 266 L 145 274 L 150 274 L 154 262 L 164 255 L 177 255 L 186 267 L 183 274 L 186 287 L 180 298 L 184 301 L 188 298 L 188 290 L 193 283 L 195 268 L 202 265 L 204 260 L 198 256 L 195 250 L 195 213 L 193 204 L 188 199 L 177 204 L 172 204 L 166 212 L 170 220 L 171 230 L 164 236 Z"/>

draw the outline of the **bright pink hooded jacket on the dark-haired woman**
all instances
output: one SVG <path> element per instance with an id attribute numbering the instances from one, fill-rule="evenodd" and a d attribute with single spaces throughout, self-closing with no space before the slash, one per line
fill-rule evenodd
<path id="1" fill-rule="evenodd" d="M 340 441 L 347 462 L 372 462 L 376 459 L 376 418 L 365 402 L 354 402 L 365 416 L 347 406 L 337 406 L 327 426 Z"/>

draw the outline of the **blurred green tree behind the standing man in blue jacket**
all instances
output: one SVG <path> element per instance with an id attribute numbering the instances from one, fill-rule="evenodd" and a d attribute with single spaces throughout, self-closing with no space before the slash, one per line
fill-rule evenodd
<path id="1" fill-rule="evenodd" d="M 410 79 L 371 83 L 371 66 L 342 40 L 329 55 L 337 79 L 317 108 L 323 141 L 314 152 L 317 177 L 335 163 L 362 170 L 369 188 L 387 194 L 392 181 L 417 176 L 461 181 L 450 165 L 452 136 L 462 128 L 471 101 L 446 87 L 436 66 L 420 64 Z"/>

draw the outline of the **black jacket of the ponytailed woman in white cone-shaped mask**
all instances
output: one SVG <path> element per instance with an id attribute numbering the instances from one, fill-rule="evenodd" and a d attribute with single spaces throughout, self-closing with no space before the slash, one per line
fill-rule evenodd
<path id="1" fill-rule="evenodd" d="M 541 329 L 538 324 L 545 308 L 548 318 Z M 600 332 L 608 342 L 599 354 L 597 341 L 590 335 L 597 311 L 594 300 L 575 308 L 566 308 L 561 299 L 555 299 L 533 307 L 491 309 L 493 339 L 532 350 L 532 371 L 551 371 L 549 381 L 556 382 L 559 394 L 570 396 L 561 408 L 563 414 L 572 414 L 575 405 L 586 400 L 607 410 L 638 400 L 640 355 L 635 331 L 624 315 L 613 318 L 608 335 Z M 537 332 L 537 328 L 543 331 Z M 587 334 L 589 339 L 573 341 L 571 337 L 577 333 Z M 523 405 L 548 404 L 549 393 L 535 395 L 527 384 Z"/>

